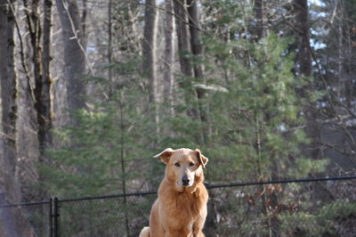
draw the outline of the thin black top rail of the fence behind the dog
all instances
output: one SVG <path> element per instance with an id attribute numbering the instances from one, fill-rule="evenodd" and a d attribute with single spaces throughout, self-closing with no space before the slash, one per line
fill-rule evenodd
<path id="1" fill-rule="evenodd" d="M 300 179 L 283 179 L 283 180 L 270 180 L 270 181 L 261 181 L 261 182 L 247 182 L 247 183 L 231 183 L 231 184 L 206 184 L 207 189 L 215 189 L 215 188 L 227 188 L 227 187 L 242 187 L 242 186 L 253 186 L 253 185 L 264 185 L 264 184 L 288 184 L 288 183 L 307 183 L 307 182 L 319 182 L 319 181 L 337 181 L 337 180 L 347 180 L 347 179 L 356 179 L 356 175 L 353 176 L 326 176 L 326 177 L 317 177 L 317 178 L 300 178 Z M 113 195 L 105 195 L 105 196 L 92 196 L 92 197 L 84 197 L 84 198 L 75 198 L 75 199 L 63 199 L 58 200 L 59 202 L 71 202 L 78 200 L 103 200 L 103 199 L 115 199 L 115 198 L 125 198 L 132 196 L 146 196 L 157 194 L 157 191 L 149 191 L 149 192 L 130 192 L 130 193 L 122 193 L 122 194 L 113 194 Z M 13 203 L 7 205 L 0 205 L 0 208 L 10 208 L 16 206 L 32 206 L 32 205 L 40 205 L 40 204 L 49 204 L 51 200 L 43 200 L 36 202 L 22 202 L 22 203 Z"/>

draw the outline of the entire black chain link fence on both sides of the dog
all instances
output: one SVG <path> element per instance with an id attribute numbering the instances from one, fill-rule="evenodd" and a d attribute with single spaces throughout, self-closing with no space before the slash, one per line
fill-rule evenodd
<path id="1" fill-rule="evenodd" d="M 356 176 L 207 185 L 206 236 L 356 236 Z M 138 236 L 156 192 L 0 206 L 9 230 L 21 213 L 28 236 Z"/>

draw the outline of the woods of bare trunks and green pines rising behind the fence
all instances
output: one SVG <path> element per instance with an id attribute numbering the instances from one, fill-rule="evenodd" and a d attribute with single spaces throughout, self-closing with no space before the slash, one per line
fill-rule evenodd
<path id="1" fill-rule="evenodd" d="M 155 190 L 164 166 L 151 157 L 166 147 L 203 151 L 208 184 L 355 174 L 355 11 L 354 0 L 0 0 L 0 193 Z M 347 185 L 336 213 L 356 210 Z M 320 189 L 304 204 L 333 205 Z M 267 191 L 273 215 L 300 193 Z"/>

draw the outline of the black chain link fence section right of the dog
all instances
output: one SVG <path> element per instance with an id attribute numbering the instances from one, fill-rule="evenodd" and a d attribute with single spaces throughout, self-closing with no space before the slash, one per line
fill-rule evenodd
<path id="1" fill-rule="evenodd" d="M 356 236 L 354 180 L 295 181 L 210 190 L 206 236 Z"/>

